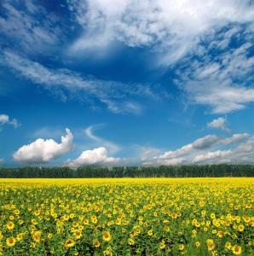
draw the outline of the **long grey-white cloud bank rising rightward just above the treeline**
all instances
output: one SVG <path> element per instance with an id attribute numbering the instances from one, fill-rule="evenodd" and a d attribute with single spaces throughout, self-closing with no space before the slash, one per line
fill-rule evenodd
<path id="1" fill-rule="evenodd" d="M 236 153 L 240 155 L 246 150 L 254 148 L 253 145 L 246 141 L 241 143 L 236 149 L 212 149 L 218 147 L 225 147 L 234 143 L 240 143 L 246 139 L 251 139 L 249 133 L 234 134 L 231 137 L 217 137 L 215 135 L 207 135 L 205 137 L 195 140 L 193 143 L 182 146 L 176 150 L 170 150 L 164 154 L 150 155 L 144 158 L 142 164 L 145 166 L 158 166 L 158 165 L 181 165 L 181 164 L 199 164 L 204 163 L 221 163 L 221 162 L 236 162 L 240 160 L 234 159 Z M 252 148 L 253 147 L 253 148 Z M 232 154 L 232 152 L 234 154 Z M 249 151 L 248 151 L 249 152 Z M 250 153 L 248 153 L 250 154 Z M 254 154 L 254 152 L 252 152 Z M 243 155 L 242 155 L 243 156 Z M 250 162 L 251 158 L 247 162 Z M 244 163 L 244 160 L 242 161 Z"/>

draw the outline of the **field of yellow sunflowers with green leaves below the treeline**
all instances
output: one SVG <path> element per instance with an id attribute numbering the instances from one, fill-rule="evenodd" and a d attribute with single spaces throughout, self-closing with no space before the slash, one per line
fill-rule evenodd
<path id="1" fill-rule="evenodd" d="M 0 254 L 254 255 L 253 184 L 0 179 Z"/>

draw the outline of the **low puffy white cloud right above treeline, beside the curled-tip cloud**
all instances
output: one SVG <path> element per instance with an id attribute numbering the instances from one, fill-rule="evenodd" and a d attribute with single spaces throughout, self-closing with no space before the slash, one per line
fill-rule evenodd
<path id="1" fill-rule="evenodd" d="M 107 148 L 100 147 L 85 150 L 75 160 L 66 161 L 66 166 L 78 168 L 79 166 L 114 166 L 118 164 L 119 158 L 107 156 Z"/>

